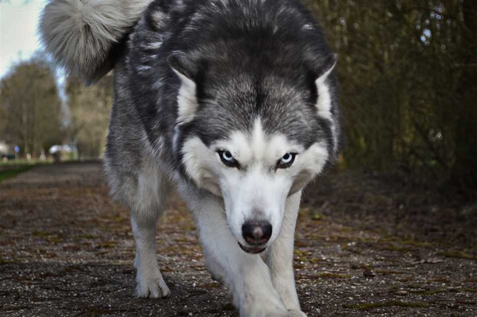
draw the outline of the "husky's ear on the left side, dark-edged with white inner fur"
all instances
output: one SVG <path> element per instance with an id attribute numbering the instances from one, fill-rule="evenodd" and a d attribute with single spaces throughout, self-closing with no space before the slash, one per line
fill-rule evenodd
<path id="1" fill-rule="evenodd" d="M 180 51 L 173 52 L 167 61 L 181 81 L 177 93 L 176 124 L 184 124 L 192 121 L 198 108 L 197 85 L 194 81 L 197 68 L 189 57 Z"/>

